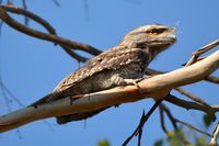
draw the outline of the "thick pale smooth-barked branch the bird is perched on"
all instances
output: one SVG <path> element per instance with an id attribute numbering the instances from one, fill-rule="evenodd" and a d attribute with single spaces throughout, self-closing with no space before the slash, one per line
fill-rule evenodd
<path id="1" fill-rule="evenodd" d="M 66 114 L 88 112 L 105 106 L 135 102 L 146 98 L 155 100 L 166 97 L 171 89 L 204 80 L 219 68 L 219 50 L 192 66 L 147 78 L 135 86 L 117 87 L 110 90 L 85 94 L 71 104 L 70 98 L 50 103 L 27 106 L 0 117 L 0 132 L 5 132 L 26 123 Z M 188 106 L 189 108 L 189 106 Z"/>

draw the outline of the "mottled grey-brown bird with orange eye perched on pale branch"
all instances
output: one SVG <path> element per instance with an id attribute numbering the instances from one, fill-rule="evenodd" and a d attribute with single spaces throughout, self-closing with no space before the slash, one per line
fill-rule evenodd
<path id="1" fill-rule="evenodd" d="M 31 104 L 37 106 L 66 97 L 77 97 L 135 83 L 145 77 L 148 65 L 176 42 L 175 27 L 148 24 L 127 33 L 118 45 L 90 59 L 69 74 L 54 91 Z M 76 98 L 77 100 L 77 98 Z M 92 117 L 108 109 L 57 116 L 58 124 Z"/>

